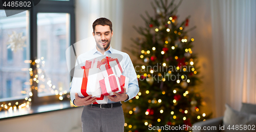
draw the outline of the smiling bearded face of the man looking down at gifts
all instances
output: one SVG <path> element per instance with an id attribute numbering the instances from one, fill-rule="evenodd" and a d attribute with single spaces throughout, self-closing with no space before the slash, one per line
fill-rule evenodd
<path id="1" fill-rule="evenodd" d="M 93 36 L 99 49 L 105 50 L 110 47 L 113 31 L 110 31 L 109 25 L 96 25 Z"/>

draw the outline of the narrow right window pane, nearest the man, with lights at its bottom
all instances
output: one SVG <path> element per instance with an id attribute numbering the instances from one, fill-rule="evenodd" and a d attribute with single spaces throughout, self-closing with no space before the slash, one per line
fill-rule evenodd
<path id="1" fill-rule="evenodd" d="M 44 62 L 40 66 L 42 72 L 38 74 L 39 97 L 69 91 L 70 75 L 65 59 L 69 46 L 66 42 L 70 39 L 68 23 L 69 13 L 37 13 L 38 47 L 41 45 L 41 49 L 37 49 L 37 56 Z M 49 45 L 47 42 L 50 42 Z M 63 61 L 65 63 L 61 63 Z"/>

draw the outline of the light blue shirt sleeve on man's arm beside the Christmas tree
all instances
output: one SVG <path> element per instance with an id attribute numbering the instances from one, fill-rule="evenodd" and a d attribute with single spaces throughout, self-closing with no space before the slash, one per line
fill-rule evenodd
<path id="1" fill-rule="evenodd" d="M 128 90 L 126 93 L 129 96 L 129 99 L 125 100 L 125 101 L 128 101 L 128 100 L 134 98 L 139 92 L 139 84 L 138 84 L 137 74 L 135 72 L 133 62 L 132 62 L 131 58 L 129 57 L 129 55 L 127 55 L 127 58 L 124 61 L 123 75 L 125 77 L 129 78 L 129 86 L 128 86 Z"/>

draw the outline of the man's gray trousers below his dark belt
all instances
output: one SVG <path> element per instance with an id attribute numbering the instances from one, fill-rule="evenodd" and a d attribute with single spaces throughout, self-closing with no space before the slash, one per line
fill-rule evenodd
<path id="1" fill-rule="evenodd" d="M 124 115 L 122 107 L 105 108 L 84 106 L 82 111 L 82 132 L 123 132 Z"/>

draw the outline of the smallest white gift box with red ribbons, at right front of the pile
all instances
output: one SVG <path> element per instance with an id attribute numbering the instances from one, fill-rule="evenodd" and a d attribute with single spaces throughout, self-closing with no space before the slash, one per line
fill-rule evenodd
<path id="1" fill-rule="evenodd" d="M 120 77 L 118 77 L 115 74 L 111 74 L 108 77 L 105 77 L 103 80 L 100 80 L 99 84 L 103 95 L 115 96 L 113 94 L 114 92 L 119 94 L 124 92 L 123 87 L 126 88 L 125 92 L 127 92 L 129 78 L 123 75 L 120 75 Z"/>

